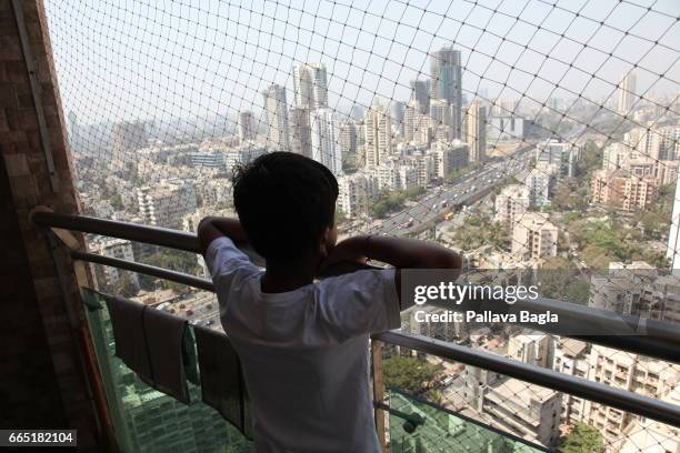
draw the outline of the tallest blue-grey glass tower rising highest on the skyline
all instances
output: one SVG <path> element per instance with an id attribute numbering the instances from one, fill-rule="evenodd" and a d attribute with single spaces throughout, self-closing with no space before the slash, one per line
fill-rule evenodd
<path id="1" fill-rule="evenodd" d="M 430 98 L 444 99 L 453 105 L 456 118 L 453 118 L 453 134 L 456 139 L 461 137 L 462 110 L 462 67 L 460 64 L 460 51 L 453 47 L 443 47 L 432 52 L 430 60 Z"/>

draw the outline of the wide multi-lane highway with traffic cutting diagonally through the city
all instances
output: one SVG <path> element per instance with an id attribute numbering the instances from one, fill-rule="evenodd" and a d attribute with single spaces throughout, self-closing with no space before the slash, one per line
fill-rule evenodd
<path id="1" fill-rule="evenodd" d="M 533 144 L 526 147 L 512 157 L 488 163 L 464 174 L 460 180 L 432 189 L 416 205 L 392 214 L 373 228 L 371 233 L 406 235 L 419 231 L 423 224 L 437 222 L 443 213 L 457 205 L 468 204 L 467 202 L 474 200 L 481 192 L 488 192 L 506 177 L 527 171 L 534 148 Z"/>

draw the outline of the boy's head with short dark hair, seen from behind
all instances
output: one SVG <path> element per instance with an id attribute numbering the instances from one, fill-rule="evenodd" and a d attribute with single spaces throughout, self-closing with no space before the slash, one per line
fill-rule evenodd
<path id="1" fill-rule="evenodd" d="M 233 204 L 253 249 L 271 261 L 323 254 L 336 241 L 338 181 L 321 163 L 272 152 L 239 167 Z"/>

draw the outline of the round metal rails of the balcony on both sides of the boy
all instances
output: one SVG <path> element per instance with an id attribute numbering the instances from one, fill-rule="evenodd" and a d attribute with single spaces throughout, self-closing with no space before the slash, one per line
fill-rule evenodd
<path id="1" fill-rule="evenodd" d="M 184 250 L 194 253 L 199 252 L 197 236 L 189 232 L 82 215 L 61 214 L 42 210 L 33 211 L 31 213 L 31 220 L 37 225 L 50 229 L 101 234 L 176 250 Z M 102 256 L 80 250 L 71 250 L 71 256 L 76 260 L 140 272 L 202 290 L 214 291 L 209 280 L 149 264 Z M 539 299 L 534 302 L 536 303 L 531 303 L 528 301 L 523 309 L 539 313 L 541 311 L 544 312 L 546 306 L 549 305 L 550 310 L 559 310 L 566 319 L 572 321 L 582 320 L 584 322 L 588 321 L 589 316 L 601 318 L 603 315 L 603 311 L 601 310 L 594 310 L 568 302 L 552 301 L 549 299 Z M 499 310 L 502 310 L 502 308 Z M 678 362 L 679 358 L 677 351 L 680 345 L 678 341 L 678 330 L 666 324 L 667 323 L 663 322 L 648 321 L 648 334 L 646 335 L 612 338 L 597 335 L 588 336 L 586 340 L 663 361 Z M 550 333 L 549 329 L 544 329 L 544 331 Z M 567 375 L 552 370 L 510 360 L 490 352 L 478 351 L 458 344 L 399 331 L 373 334 L 372 339 L 388 344 L 404 346 L 424 354 L 493 371 L 527 383 L 583 397 L 661 423 L 680 426 L 680 406 L 624 390 L 614 389 L 583 378 Z"/>

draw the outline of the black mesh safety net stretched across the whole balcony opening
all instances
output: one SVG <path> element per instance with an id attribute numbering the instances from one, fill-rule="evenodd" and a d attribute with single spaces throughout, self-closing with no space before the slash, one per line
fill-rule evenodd
<path id="1" fill-rule="evenodd" d="M 621 274 L 678 268 L 674 1 L 46 0 L 46 9 L 84 213 L 194 231 L 206 214 L 234 215 L 236 163 L 292 151 L 337 175 L 343 235 L 438 241 L 462 251 L 470 274 L 564 271 L 542 295 L 680 320 L 672 275 L 631 285 Z M 88 243 L 204 272 L 183 252 Z M 219 328 L 207 294 L 98 274 L 102 286 Z M 664 362 L 564 338 L 407 328 L 408 316 L 404 328 L 419 333 L 522 361 L 544 349 L 541 366 L 677 397 L 680 372 Z M 521 385 L 494 397 L 511 407 Z M 677 431 L 659 429 L 661 440 L 649 421 L 569 401 L 544 445 L 586 423 L 607 451 L 678 447 Z"/>

